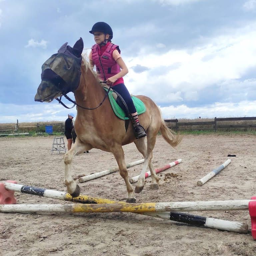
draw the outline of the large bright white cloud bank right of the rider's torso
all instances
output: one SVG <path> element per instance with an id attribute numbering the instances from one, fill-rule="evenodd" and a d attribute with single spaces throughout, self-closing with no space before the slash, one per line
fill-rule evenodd
<path id="1" fill-rule="evenodd" d="M 256 66 L 256 23 L 226 31 L 226 34 L 201 39 L 201 46 L 195 48 L 172 49 L 163 54 L 144 48 L 133 59 L 124 56 L 129 68 L 126 86 L 131 93 L 147 94 L 161 104 L 166 102 L 163 95 L 181 91 L 185 95 L 181 100 L 197 100 L 197 92 L 202 89 L 241 79 Z M 135 65 L 149 70 L 137 74 L 131 69 Z M 154 71 L 163 67 L 166 72 Z M 243 90 L 242 84 L 236 86 Z M 230 93 L 232 95 L 232 90 Z"/>

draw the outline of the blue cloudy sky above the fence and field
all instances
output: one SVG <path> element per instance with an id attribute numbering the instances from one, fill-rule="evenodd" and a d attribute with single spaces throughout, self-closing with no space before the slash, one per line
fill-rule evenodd
<path id="1" fill-rule="evenodd" d="M 34 102 L 41 65 L 80 37 L 89 53 L 97 21 L 113 29 L 130 93 L 165 118 L 256 115 L 256 0 L 0 0 L 0 123 L 66 119 L 56 100 Z"/>

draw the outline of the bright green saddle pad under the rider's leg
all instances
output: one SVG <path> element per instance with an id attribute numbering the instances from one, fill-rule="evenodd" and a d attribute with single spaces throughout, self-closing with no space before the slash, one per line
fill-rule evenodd
<path id="1" fill-rule="evenodd" d="M 103 88 L 105 91 L 108 91 L 107 88 Z M 108 98 L 110 101 L 110 104 L 112 106 L 112 109 L 114 111 L 114 113 L 116 114 L 117 117 L 119 117 L 120 119 L 129 119 L 128 116 L 126 116 L 125 112 L 121 109 L 121 107 L 117 104 L 116 100 L 114 99 L 113 95 L 112 95 L 113 91 L 109 91 L 108 94 Z M 134 106 L 138 112 L 138 115 L 144 113 L 146 111 L 146 107 L 145 104 L 137 97 L 132 96 L 132 101 L 134 103 Z"/>

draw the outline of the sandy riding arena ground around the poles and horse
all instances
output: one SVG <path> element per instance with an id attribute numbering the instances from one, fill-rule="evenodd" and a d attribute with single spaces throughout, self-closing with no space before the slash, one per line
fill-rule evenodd
<path id="1" fill-rule="evenodd" d="M 0 138 L 0 181 L 66 191 L 63 185 L 63 154 L 51 155 L 53 137 Z M 65 140 L 65 143 L 67 141 Z M 159 135 L 153 155 L 155 168 L 178 158 L 183 163 L 164 171 L 158 190 L 150 190 L 150 178 L 137 202 L 211 201 L 250 199 L 256 195 L 256 136 L 184 135 L 176 148 Z M 142 158 L 134 144 L 124 146 L 126 162 Z M 202 187 L 198 179 L 228 159 L 231 163 Z M 73 177 L 116 166 L 112 154 L 92 149 L 75 156 Z M 142 165 L 129 168 L 139 174 Z M 165 175 L 174 173 L 175 175 Z M 126 187 L 119 173 L 81 183 L 81 194 L 125 200 Z M 15 193 L 18 203 L 62 203 L 33 195 Z M 248 211 L 208 211 L 194 214 L 246 222 Z M 238 234 L 171 224 L 168 220 L 133 213 L 19 214 L 0 213 L 0 255 L 31 256 L 198 256 L 256 255 L 250 234 Z"/>

